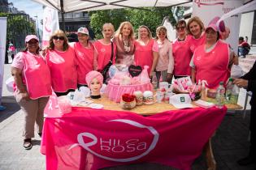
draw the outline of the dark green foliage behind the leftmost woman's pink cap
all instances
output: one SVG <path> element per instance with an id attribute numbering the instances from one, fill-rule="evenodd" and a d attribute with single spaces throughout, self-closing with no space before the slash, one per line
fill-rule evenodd
<path id="1" fill-rule="evenodd" d="M 36 34 L 35 24 L 29 21 L 28 15 L 0 13 L 0 16 L 7 17 L 7 40 L 16 48 L 23 48 L 25 36 Z"/>

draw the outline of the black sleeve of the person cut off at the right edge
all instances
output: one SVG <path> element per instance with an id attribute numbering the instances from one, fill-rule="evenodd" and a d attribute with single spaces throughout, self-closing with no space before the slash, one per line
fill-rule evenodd
<path id="1" fill-rule="evenodd" d="M 248 80 L 247 91 L 252 91 L 253 96 L 250 100 L 250 105 L 256 105 L 256 61 L 254 62 L 254 66 L 249 70 L 249 72 L 241 77 L 241 79 Z"/>

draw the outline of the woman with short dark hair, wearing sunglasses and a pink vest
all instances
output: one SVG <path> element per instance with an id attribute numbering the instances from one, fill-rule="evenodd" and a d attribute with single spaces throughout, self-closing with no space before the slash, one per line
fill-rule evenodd
<path id="1" fill-rule="evenodd" d="M 176 32 L 178 37 L 172 42 L 172 54 L 174 57 L 174 77 L 179 79 L 190 76 L 189 62 L 193 53 L 189 46 L 191 36 L 187 36 L 186 22 L 184 20 L 176 23 Z"/>

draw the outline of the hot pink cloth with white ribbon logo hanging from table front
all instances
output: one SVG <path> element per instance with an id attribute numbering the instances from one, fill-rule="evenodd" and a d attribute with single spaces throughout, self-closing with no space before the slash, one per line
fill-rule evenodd
<path id="1" fill-rule="evenodd" d="M 136 113 L 72 108 L 48 114 L 41 153 L 46 169 L 98 169 L 154 162 L 189 170 L 227 108 L 190 108 L 142 117 Z"/>

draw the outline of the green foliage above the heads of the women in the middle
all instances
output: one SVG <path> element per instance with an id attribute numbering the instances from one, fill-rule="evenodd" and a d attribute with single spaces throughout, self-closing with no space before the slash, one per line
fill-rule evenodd
<path id="1" fill-rule="evenodd" d="M 153 36 L 156 28 L 162 24 L 164 17 L 168 16 L 171 23 L 176 23 L 171 7 L 93 11 L 89 12 L 89 15 L 91 19 L 90 26 L 93 28 L 97 39 L 102 38 L 102 25 L 104 23 L 113 23 L 115 30 L 117 30 L 120 23 L 129 21 L 132 23 L 135 32 L 141 25 L 145 25 L 150 28 Z"/>

